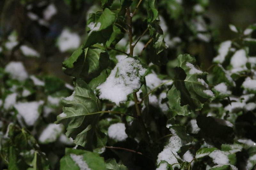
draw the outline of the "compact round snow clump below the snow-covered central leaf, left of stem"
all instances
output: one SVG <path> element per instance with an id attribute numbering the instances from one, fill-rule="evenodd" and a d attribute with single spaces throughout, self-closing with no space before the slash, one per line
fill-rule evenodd
<path id="1" fill-rule="evenodd" d="M 124 123 L 115 123 L 108 127 L 108 137 L 117 141 L 124 141 L 128 136 L 125 133 Z"/>

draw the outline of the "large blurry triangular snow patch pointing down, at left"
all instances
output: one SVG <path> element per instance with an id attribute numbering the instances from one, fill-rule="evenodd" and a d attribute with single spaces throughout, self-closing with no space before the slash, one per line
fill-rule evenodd
<path id="1" fill-rule="evenodd" d="M 40 116 L 38 111 L 39 107 L 44 104 L 44 101 L 32 101 L 32 102 L 18 102 L 14 105 L 14 108 L 18 111 L 18 114 L 23 117 L 25 123 L 28 126 L 33 126 Z"/>

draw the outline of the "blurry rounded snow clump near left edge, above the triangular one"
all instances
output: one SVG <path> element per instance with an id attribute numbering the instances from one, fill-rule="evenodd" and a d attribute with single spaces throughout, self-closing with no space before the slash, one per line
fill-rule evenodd
<path id="1" fill-rule="evenodd" d="M 12 79 L 23 81 L 28 78 L 28 73 L 21 62 L 10 62 L 5 66 L 5 72 L 9 73 Z"/>

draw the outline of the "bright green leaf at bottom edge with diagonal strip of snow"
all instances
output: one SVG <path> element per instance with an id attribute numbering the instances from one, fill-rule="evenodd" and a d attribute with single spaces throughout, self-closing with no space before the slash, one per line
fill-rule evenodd
<path id="1" fill-rule="evenodd" d="M 104 158 L 85 150 L 66 148 L 65 156 L 60 159 L 61 170 L 80 170 L 87 166 L 91 170 L 106 170 Z"/>

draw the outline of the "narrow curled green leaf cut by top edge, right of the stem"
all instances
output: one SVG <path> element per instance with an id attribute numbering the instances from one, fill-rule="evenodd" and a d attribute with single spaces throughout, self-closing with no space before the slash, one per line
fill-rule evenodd
<path id="1" fill-rule="evenodd" d="M 158 18 L 158 10 L 156 9 L 155 0 L 146 0 L 146 9 L 148 13 L 148 23 L 155 21 Z"/>

